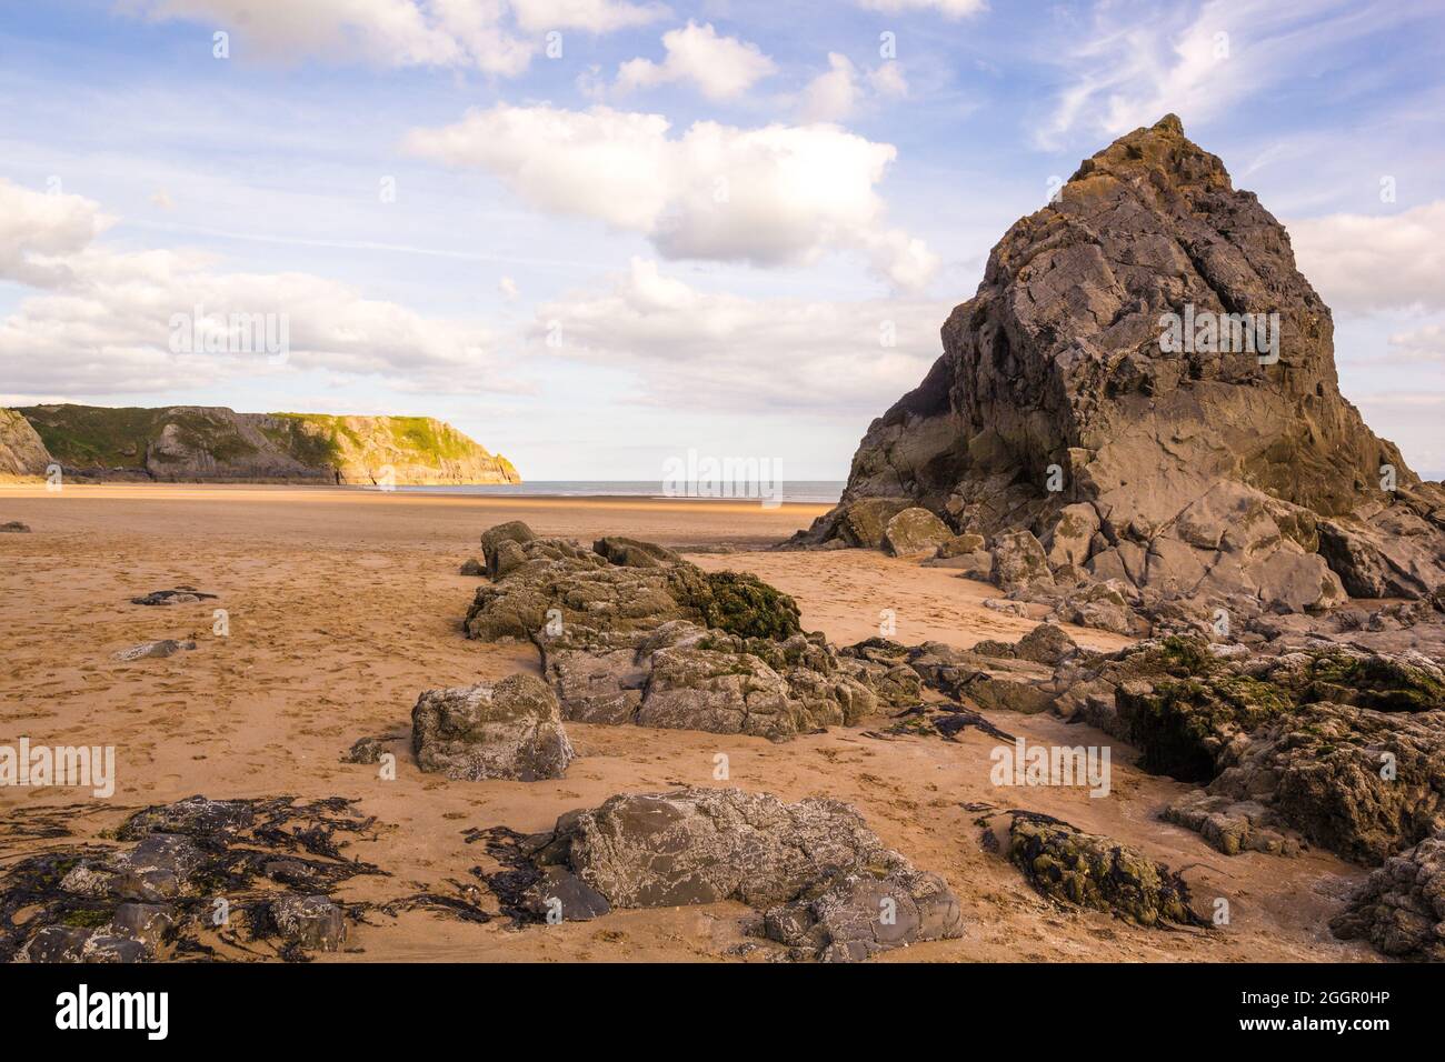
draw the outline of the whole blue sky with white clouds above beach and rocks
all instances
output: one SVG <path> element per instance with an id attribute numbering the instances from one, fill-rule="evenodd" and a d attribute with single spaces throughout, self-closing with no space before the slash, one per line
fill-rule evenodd
<path id="1" fill-rule="evenodd" d="M 1347 396 L 1445 468 L 1435 0 L 0 10 L 4 403 L 428 413 L 535 480 L 688 449 L 841 478 L 1004 230 L 1175 111 L 1289 227 Z M 173 353 L 198 302 L 285 314 L 290 357 Z"/>

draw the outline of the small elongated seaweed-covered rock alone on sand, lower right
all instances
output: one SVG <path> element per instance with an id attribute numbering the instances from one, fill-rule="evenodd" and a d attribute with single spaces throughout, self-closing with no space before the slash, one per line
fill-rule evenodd
<path id="1" fill-rule="evenodd" d="M 1009 860 L 1049 899 L 1113 912 L 1142 926 L 1201 926 L 1179 874 L 1107 837 L 1062 822 L 1014 816 Z"/>

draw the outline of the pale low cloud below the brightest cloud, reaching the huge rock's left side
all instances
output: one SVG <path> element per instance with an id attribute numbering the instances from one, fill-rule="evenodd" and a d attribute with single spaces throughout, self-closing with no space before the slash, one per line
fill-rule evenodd
<path id="1" fill-rule="evenodd" d="M 533 341 L 540 350 L 551 335 L 551 354 L 630 368 L 647 400 L 685 409 L 881 410 L 938 357 L 948 309 L 711 293 L 633 259 L 607 290 L 539 306 Z"/>

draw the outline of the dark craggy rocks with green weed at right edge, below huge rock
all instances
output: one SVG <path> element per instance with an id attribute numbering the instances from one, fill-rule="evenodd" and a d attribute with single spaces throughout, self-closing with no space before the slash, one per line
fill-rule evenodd
<path id="1" fill-rule="evenodd" d="M 1144 770 L 1199 785 L 1163 816 L 1220 851 L 1379 864 L 1445 828 L 1442 678 L 1415 652 L 1172 636 L 1066 657 L 1052 685 Z"/>

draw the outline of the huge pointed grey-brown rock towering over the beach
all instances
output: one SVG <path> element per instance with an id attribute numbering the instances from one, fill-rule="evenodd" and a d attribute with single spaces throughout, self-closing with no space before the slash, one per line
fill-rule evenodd
<path id="1" fill-rule="evenodd" d="M 1069 581 L 1118 579 L 1144 608 L 1426 597 L 1445 490 L 1341 396 L 1332 338 L 1285 228 L 1168 116 L 1009 230 L 796 545 L 876 546 L 922 506 L 993 542 L 1032 532 Z"/>

